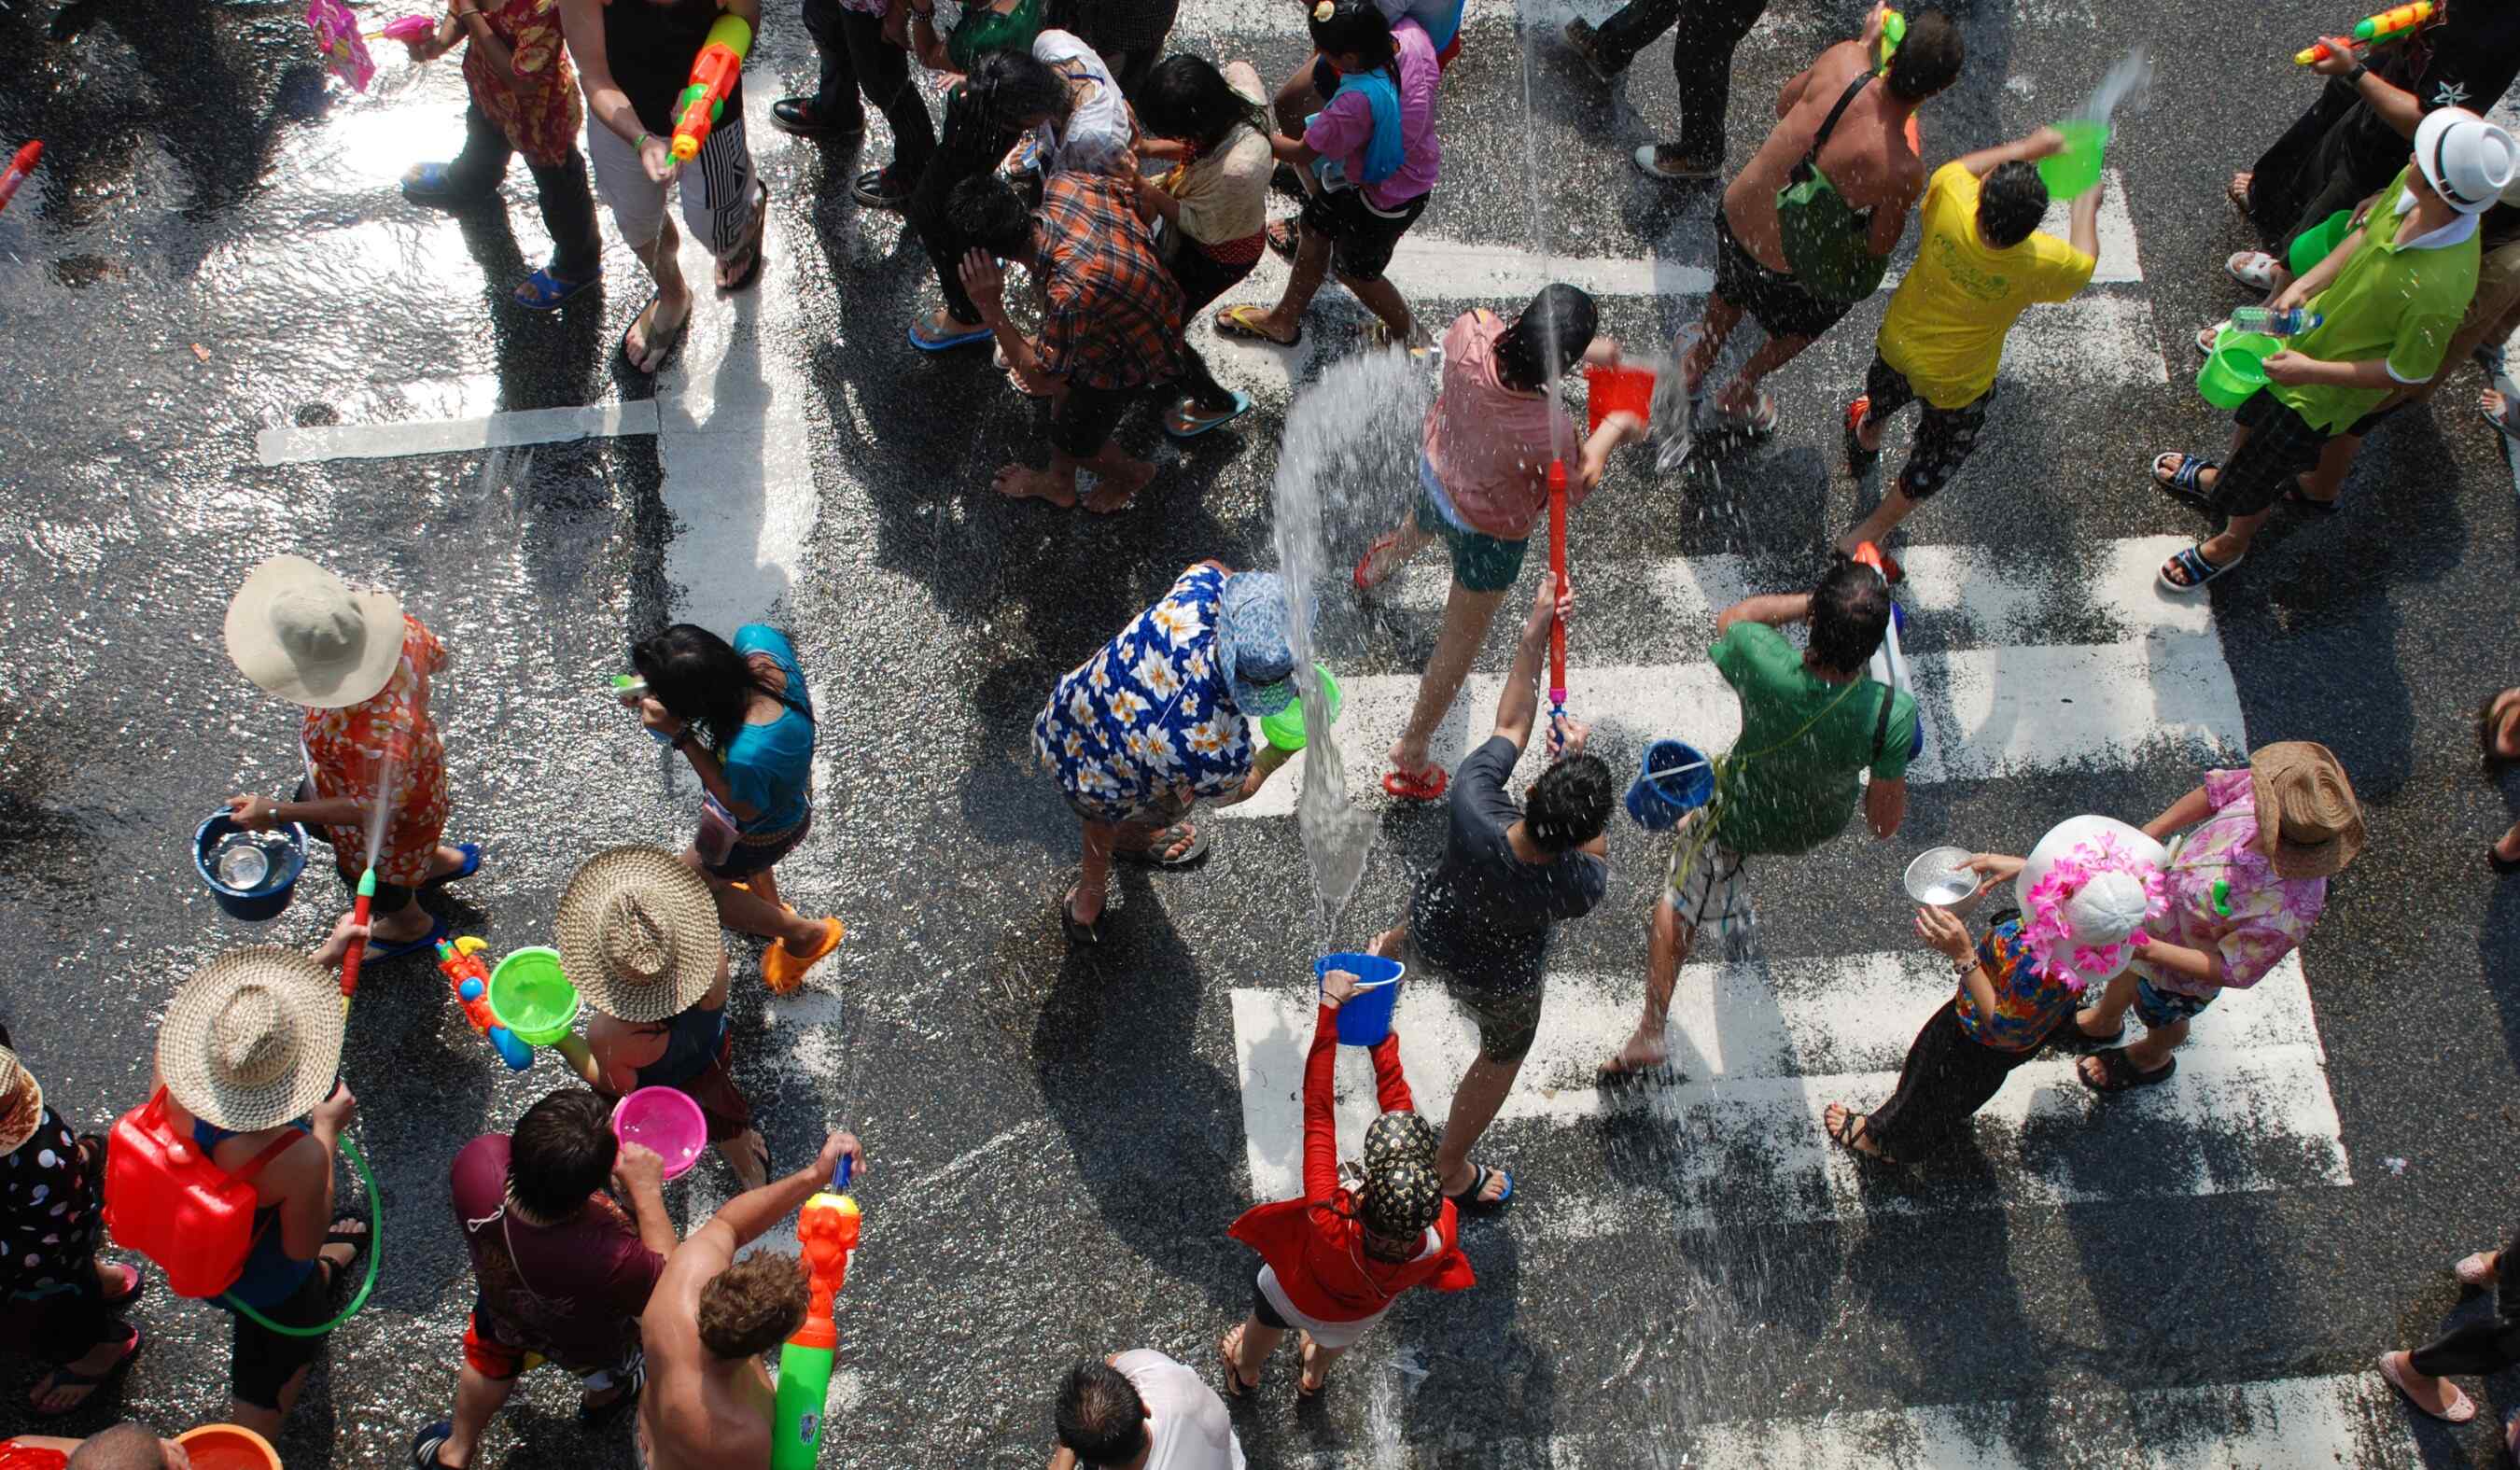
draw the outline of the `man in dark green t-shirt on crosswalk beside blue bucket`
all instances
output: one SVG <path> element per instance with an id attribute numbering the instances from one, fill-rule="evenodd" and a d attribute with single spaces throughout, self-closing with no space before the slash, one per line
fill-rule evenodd
<path id="1" fill-rule="evenodd" d="M 1777 630 L 1787 623 L 1812 628 L 1807 651 Z M 1741 739 L 1724 756 L 1714 802 L 1673 830 L 1671 877 L 1646 920 L 1646 1014 L 1600 1064 L 1603 1077 L 1651 1072 L 1671 1054 L 1671 991 L 1698 933 L 1751 920 L 1746 857 L 1809 852 L 1837 837 L 1867 769 L 1865 825 L 1882 842 L 1898 835 L 1915 698 L 1865 676 L 1887 628 L 1890 585 L 1850 557 L 1835 557 L 1809 593 L 1744 598 L 1716 618 L 1709 653 L 1741 698 Z"/>

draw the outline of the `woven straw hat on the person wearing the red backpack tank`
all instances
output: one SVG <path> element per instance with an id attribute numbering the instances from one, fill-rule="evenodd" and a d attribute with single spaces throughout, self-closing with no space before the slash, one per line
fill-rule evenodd
<path id="1" fill-rule="evenodd" d="M 323 966 L 280 946 L 229 951 L 166 1004 L 159 1072 L 184 1112 L 255 1132 L 333 1092 L 340 1034 L 340 986 Z"/>

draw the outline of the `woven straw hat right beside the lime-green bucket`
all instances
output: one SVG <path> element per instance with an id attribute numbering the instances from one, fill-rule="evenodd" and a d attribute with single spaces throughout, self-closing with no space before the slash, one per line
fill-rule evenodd
<path id="1" fill-rule="evenodd" d="M 587 857 L 559 895 L 559 968 L 622 1021 L 680 1016 L 718 983 L 718 900 L 663 847 Z"/>

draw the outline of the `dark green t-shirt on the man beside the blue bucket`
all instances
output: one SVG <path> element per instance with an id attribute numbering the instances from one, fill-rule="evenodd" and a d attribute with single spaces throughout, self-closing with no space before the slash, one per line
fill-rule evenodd
<path id="1" fill-rule="evenodd" d="M 1875 782 L 1908 774 L 1915 701 L 1893 693 L 1882 729 L 1882 686 L 1870 678 L 1830 683 L 1802 666 L 1802 651 L 1767 623 L 1734 623 L 1711 648 L 1716 671 L 1741 696 L 1741 739 L 1751 756 L 1731 772 L 1716 812 L 1714 840 L 1739 855 L 1809 852 L 1855 814 L 1855 774 Z M 1824 711 L 1824 714 L 1822 714 Z M 1804 734 L 1794 734 L 1802 731 Z"/>

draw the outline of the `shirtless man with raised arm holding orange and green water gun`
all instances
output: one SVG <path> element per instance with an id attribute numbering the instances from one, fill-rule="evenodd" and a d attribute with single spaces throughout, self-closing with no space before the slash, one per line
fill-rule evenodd
<path id="1" fill-rule="evenodd" d="M 804 1326 L 806 1273 L 796 1256 L 736 1261 L 736 1251 L 829 1188 L 842 1157 L 867 1172 L 857 1137 L 834 1132 L 811 1165 L 736 1195 L 665 1258 L 640 1316 L 648 1389 L 638 1450 L 648 1470 L 769 1470 L 779 1394 L 761 1354 Z"/>

